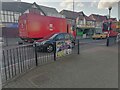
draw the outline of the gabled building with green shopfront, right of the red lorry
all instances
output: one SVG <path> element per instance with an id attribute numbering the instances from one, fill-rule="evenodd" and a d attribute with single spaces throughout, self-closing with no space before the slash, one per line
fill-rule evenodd
<path id="1" fill-rule="evenodd" d="M 75 27 L 77 35 L 83 37 L 83 34 L 85 34 L 84 37 L 89 37 L 93 34 L 95 22 L 86 16 L 82 11 L 73 12 L 69 10 L 62 10 L 60 14 L 64 15 L 68 23 Z"/>

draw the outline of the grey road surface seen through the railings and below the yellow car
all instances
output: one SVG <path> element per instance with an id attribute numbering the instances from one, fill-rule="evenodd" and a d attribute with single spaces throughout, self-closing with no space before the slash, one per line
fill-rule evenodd
<path id="1" fill-rule="evenodd" d="M 84 39 L 80 40 L 80 50 L 88 49 L 91 48 L 92 46 L 94 47 L 95 45 L 105 45 L 106 40 L 92 40 L 92 39 Z M 23 48 L 25 46 L 25 48 Z M 21 45 L 21 46 L 10 46 L 10 47 L 5 47 L 4 49 L 4 55 L 3 55 L 3 61 L 2 61 L 2 66 L 9 66 L 11 64 L 15 65 L 18 64 L 18 62 L 28 62 L 29 60 L 35 60 L 35 50 L 34 48 L 30 45 Z M 8 51 L 7 51 L 8 50 Z M 77 53 L 77 48 L 76 50 L 73 50 L 73 53 Z M 42 53 L 38 52 L 37 53 L 39 58 L 50 58 L 53 57 L 53 53 Z M 5 56 L 5 57 L 4 57 Z M 4 62 L 7 59 L 6 62 Z M 10 61 L 13 62 L 10 62 Z"/>

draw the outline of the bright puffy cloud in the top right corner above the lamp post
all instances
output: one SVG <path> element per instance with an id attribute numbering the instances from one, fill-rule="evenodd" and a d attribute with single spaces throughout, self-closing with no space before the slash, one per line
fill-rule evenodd
<path id="1" fill-rule="evenodd" d="M 108 7 L 113 7 L 120 0 L 100 0 L 98 4 L 98 9 L 106 9 Z"/>

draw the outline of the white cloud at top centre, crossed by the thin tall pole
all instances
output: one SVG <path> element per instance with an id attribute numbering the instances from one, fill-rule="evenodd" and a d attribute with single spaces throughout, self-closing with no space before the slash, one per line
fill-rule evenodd
<path id="1" fill-rule="evenodd" d="M 73 10 L 73 0 L 64 0 L 60 2 L 60 7 L 61 9 Z M 77 0 L 74 0 L 74 7 L 76 10 L 76 8 L 84 7 L 84 4 L 80 2 L 80 0 L 79 2 Z"/>

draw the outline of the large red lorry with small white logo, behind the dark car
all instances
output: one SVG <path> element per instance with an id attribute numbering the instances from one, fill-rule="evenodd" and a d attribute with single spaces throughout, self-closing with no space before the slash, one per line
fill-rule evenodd
<path id="1" fill-rule="evenodd" d="M 73 33 L 65 18 L 26 13 L 19 17 L 19 36 L 24 41 L 42 39 L 58 32 Z"/>

